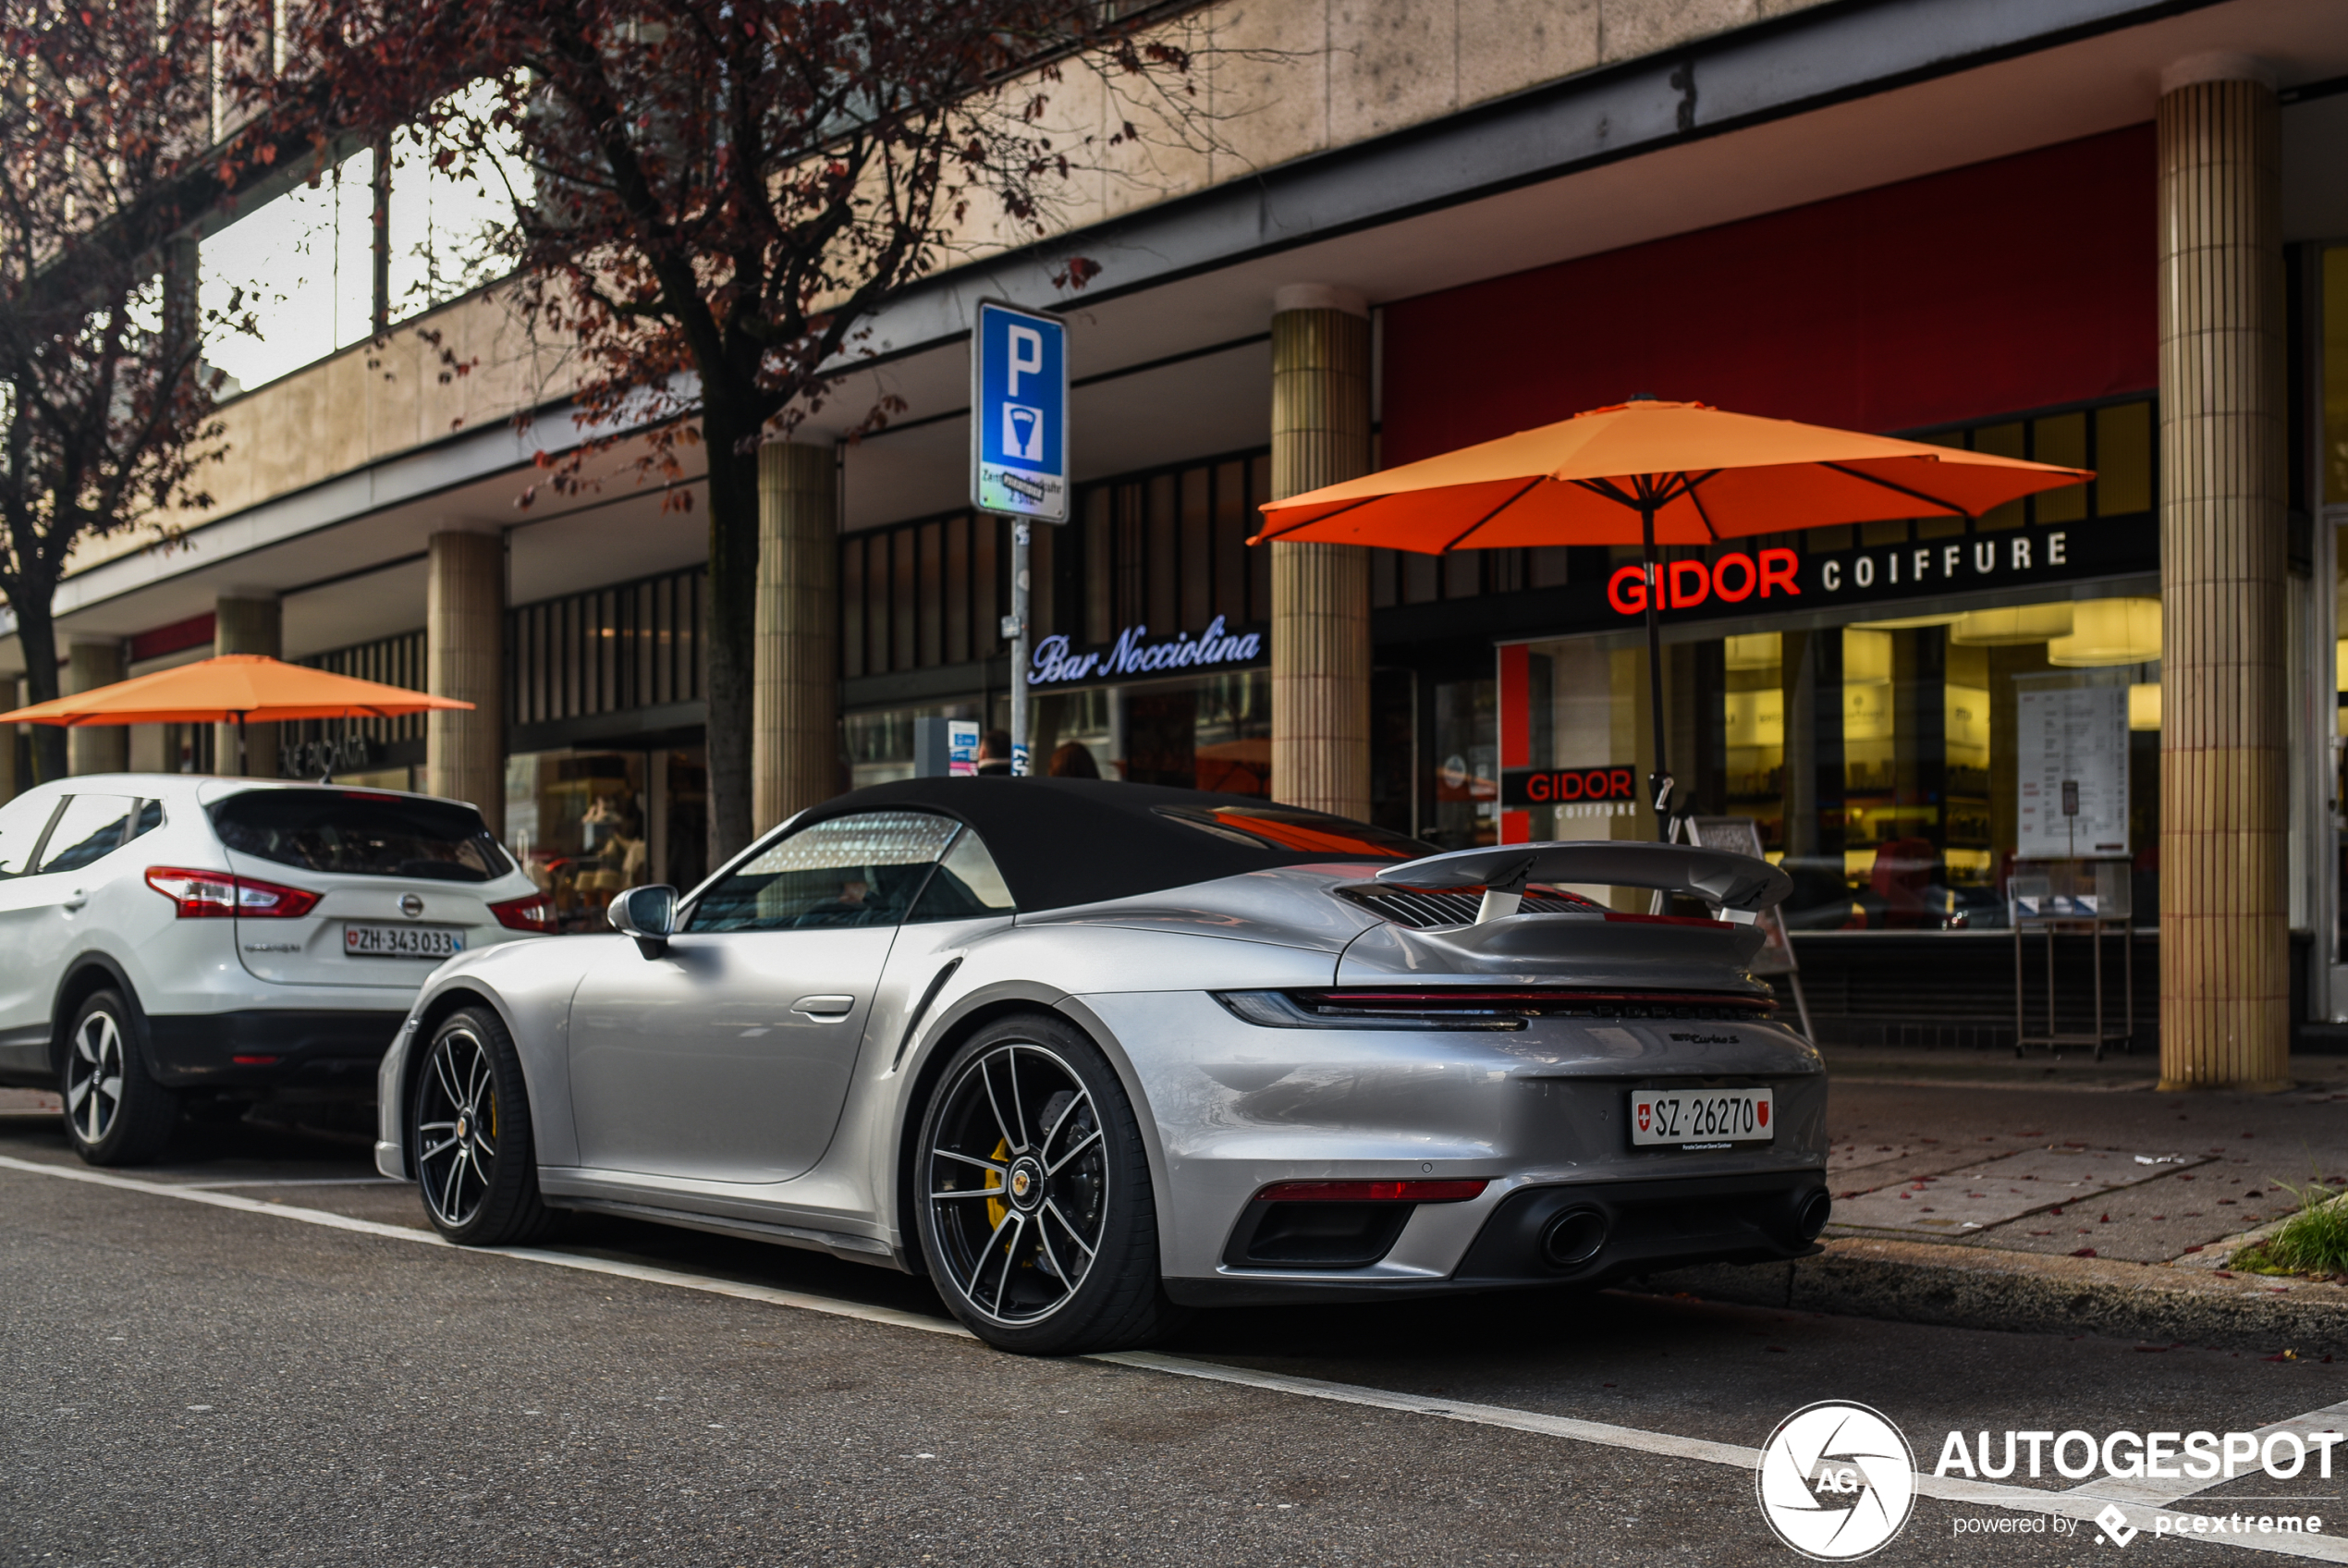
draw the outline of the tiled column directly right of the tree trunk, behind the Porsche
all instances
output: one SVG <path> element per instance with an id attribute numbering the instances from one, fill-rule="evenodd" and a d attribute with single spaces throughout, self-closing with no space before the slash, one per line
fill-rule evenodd
<path id="1" fill-rule="evenodd" d="M 758 448 L 751 829 L 841 793 L 841 545 L 834 453 Z"/>

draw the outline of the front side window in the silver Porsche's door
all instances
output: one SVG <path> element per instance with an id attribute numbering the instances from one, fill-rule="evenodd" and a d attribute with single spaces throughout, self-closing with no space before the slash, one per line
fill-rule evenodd
<path id="1" fill-rule="evenodd" d="M 927 812 L 857 812 L 761 850 L 693 904 L 690 932 L 805 932 L 897 925 L 960 824 Z"/>

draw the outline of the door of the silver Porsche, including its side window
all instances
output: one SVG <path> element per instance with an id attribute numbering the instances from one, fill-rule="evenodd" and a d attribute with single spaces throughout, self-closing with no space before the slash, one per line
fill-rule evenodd
<path id="1" fill-rule="evenodd" d="M 707 887 L 655 958 L 613 944 L 571 998 L 580 1162 L 775 1183 L 831 1143 L 904 913 L 956 822 L 810 824 Z"/>

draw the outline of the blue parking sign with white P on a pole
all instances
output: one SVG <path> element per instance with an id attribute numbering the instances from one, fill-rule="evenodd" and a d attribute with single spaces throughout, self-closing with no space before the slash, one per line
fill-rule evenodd
<path id="1" fill-rule="evenodd" d="M 970 354 L 970 502 L 1068 521 L 1068 326 L 981 303 Z"/>

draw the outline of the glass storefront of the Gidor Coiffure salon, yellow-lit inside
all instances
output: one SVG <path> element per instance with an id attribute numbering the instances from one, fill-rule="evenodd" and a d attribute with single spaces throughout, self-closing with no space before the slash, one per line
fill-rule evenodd
<path id="1" fill-rule="evenodd" d="M 1615 779 L 1526 803 L 1524 836 L 1651 838 L 1644 643 L 1533 643 L 1524 690 L 1533 770 Z M 2125 857 L 2158 908 L 2158 599 L 1674 641 L 1665 695 L 1686 800 L 1759 824 L 1796 930 L 2003 927 L 2017 854 Z"/>

